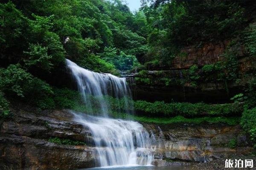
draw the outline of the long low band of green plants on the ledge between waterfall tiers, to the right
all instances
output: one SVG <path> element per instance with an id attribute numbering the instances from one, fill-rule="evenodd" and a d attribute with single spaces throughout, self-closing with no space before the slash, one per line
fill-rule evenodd
<path id="1" fill-rule="evenodd" d="M 65 98 L 60 95 L 60 99 Z M 231 103 L 231 104 L 219 104 L 209 105 L 205 103 L 165 103 L 165 102 L 146 102 L 146 101 L 133 101 L 130 98 L 123 97 L 116 99 L 111 96 L 104 96 L 105 101 L 108 102 L 111 111 L 132 111 L 135 109 L 136 114 L 145 116 L 163 116 L 163 117 L 201 117 L 201 116 L 241 116 L 243 112 L 243 104 Z M 64 99 L 65 101 L 66 99 Z M 67 100 L 68 101 L 68 100 Z M 90 96 L 91 105 L 94 109 L 99 108 L 99 99 L 96 96 Z M 62 102 L 62 101 L 60 101 Z M 69 102 L 67 102 L 69 103 Z M 73 103 L 73 102 L 71 102 Z M 72 104 L 73 106 L 74 104 Z M 63 105 L 67 108 L 74 108 L 70 105 Z M 134 108 L 133 108 L 134 107 Z M 87 111 L 88 109 L 85 109 Z M 79 111 L 79 110 L 77 110 Z M 81 111 L 81 110 L 80 110 Z"/>

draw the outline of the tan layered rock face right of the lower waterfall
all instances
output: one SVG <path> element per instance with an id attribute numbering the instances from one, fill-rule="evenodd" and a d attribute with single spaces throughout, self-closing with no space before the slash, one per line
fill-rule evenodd
<path id="1" fill-rule="evenodd" d="M 248 145 L 246 136 L 239 135 L 238 125 L 185 124 L 144 125 L 144 127 L 155 136 L 153 164 L 156 166 L 212 161 L 232 153 L 247 153 L 251 149 L 245 147 Z M 231 149 L 228 147 L 231 139 L 244 140 L 244 142 L 238 143 L 240 147 Z"/>

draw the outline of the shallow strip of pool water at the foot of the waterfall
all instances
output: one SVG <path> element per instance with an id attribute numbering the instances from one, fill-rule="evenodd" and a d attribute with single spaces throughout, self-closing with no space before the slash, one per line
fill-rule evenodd
<path id="1" fill-rule="evenodd" d="M 155 167 L 155 166 L 118 166 L 118 167 L 98 167 L 82 170 L 196 170 L 192 165 L 189 166 L 172 166 L 172 167 Z"/>

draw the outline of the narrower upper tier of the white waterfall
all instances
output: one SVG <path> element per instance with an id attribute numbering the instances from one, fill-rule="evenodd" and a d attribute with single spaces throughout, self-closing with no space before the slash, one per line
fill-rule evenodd
<path id="1" fill-rule="evenodd" d="M 104 95 L 121 98 L 131 96 L 131 90 L 126 84 L 125 78 L 116 77 L 112 74 L 96 73 L 79 67 L 76 63 L 66 59 L 67 67 L 70 69 L 79 92 L 82 94 L 88 113 L 101 113 L 108 115 L 109 104 Z M 91 96 L 96 96 L 97 106 L 92 105 Z M 127 102 L 125 104 L 128 105 Z M 95 108 L 97 108 L 95 110 Z"/>

